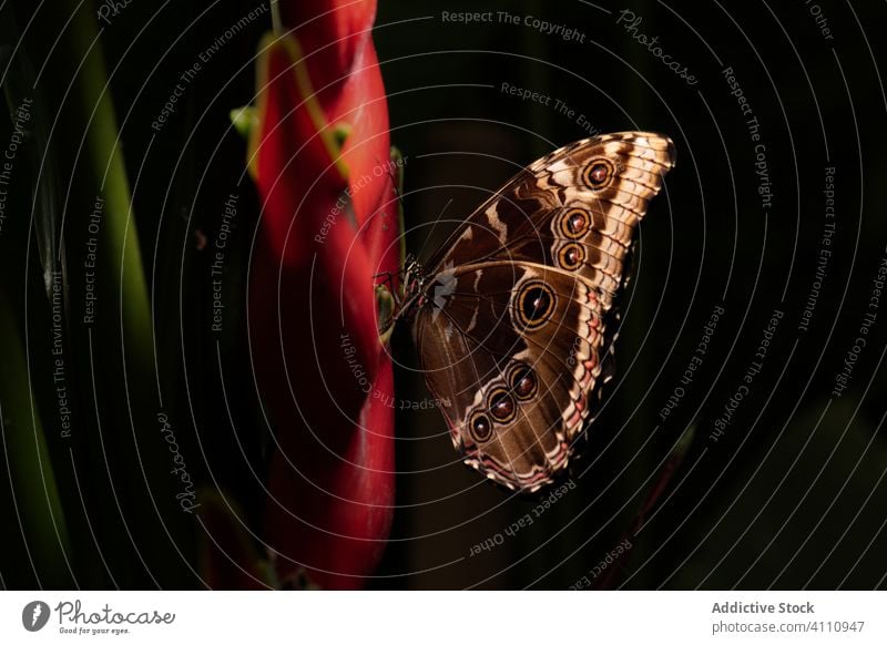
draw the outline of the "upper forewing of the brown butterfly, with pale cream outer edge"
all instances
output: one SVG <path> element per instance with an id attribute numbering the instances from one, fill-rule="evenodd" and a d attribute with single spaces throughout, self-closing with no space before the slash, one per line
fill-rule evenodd
<path id="1" fill-rule="evenodd" d="M 478 207 L 428 263 L 446 267 L 492 258 L 552 264 L 572 243 L 585 267 L 621 268 L 634 229 L 674 165 L 674 144 L 650 132 L 577 141 L 538 160 Z M 581 259 L 581 258 L 580 258 Z M 561 264 L 574 270 L 575 263 Z M 605 280 L 615 293 L 619 280 Z"/>

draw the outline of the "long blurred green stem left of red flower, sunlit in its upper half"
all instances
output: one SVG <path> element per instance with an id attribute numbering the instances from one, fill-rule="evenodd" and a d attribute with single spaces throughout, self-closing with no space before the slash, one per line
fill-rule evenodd
<path id="1" fill-rule="evenodd" d="M 124 491 L 120 510 L 151 574 L 147 582 L 182 586 L 193 580 L 179 554 L 187 542 L 188 515 L 180 510 L 170 446 L 157 423 L 162 410 L 151 300 L 95 11 L 90 1 L 59 3 L 62 14 L 73 17 L 61 41 L 71 66 L 59 71 L 59 78 L 74 76 L 69 96 L 71 126 L 84 132 L 85 154 L 74 163 L 82 168 L 78 176 L 85 181 L 77 190 L 81 203 L 89 199 L 90 192 L 103 198 L 95 269 L 98 314 L 91 329 L 79 331 L 81 357 L 85 359 L 92 349 L 94 365 L 83 360 L 78 369 L 81 378 L 95 381 L 96 413 L 105 442 L 99 458 L 114 462 L 114 484 Z M 72 225 L 82 226 L 82 219 L 72 219 Z M 174 414 L 171 417 L 175 424 Z M 94 442 L 92 448 L 94 451 Z M 136 570 L 133 572 L 139 575 Z"/>

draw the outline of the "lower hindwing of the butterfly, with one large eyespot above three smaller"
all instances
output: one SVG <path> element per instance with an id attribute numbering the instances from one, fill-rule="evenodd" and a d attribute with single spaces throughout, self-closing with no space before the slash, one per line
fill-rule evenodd
<path id="1" fill-rule="evenodd" d="M 602 345 L 597 297 L 541 265 L 497 263 L 451 279 L 447 305 L 416 320 L 426 380 L 469 464 L 539 488 L 563 469 L 588 416 Z"/>

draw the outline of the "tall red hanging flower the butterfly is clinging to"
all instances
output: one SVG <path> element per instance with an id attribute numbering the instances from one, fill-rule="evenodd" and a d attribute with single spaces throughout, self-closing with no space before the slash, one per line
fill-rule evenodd
<path id="1" fill-rule="evenodd" d="M 310 4 L 312 9 L 308 9 Z M 263 199 L 252 352 L 277 439 L 266 539 L 277 574 L 363 584 L 394 504 L 394 383 L 373 276 L 399 266 L 375 1 L 281 2 L 257 73 L 251 171 Z"/>

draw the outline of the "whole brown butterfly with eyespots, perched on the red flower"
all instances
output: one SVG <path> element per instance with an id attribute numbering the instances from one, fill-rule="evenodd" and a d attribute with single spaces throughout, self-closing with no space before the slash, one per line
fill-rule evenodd
<path id="1" fill-rule="evenodd" d="M 634 231 L 672 141 L 577 141 L 519 172 L 420 265 L 381 324 L 412 321 L 429 391 L 463 461 L 532 493 L 565 472 L 600 401 Z"/>

